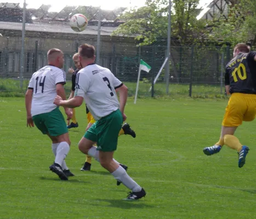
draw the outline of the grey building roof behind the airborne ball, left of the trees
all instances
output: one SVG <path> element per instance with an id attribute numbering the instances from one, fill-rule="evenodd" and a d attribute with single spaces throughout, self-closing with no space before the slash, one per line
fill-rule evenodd
<path id="1" fill-rule="evenodd" d="M 8 31 L 22 30 L 22 5 L 19 3 L 0 3 L 0 29 Z M 38 9 L 26 10 L 26 31 L 70 33 L 70 34 L 98 34 L 98 12 L 97 7 L 88 6 L 66 6 L 59 13 L 48 12 L 51 5 L 42 4 Z M 101 10 L 101 35 L 110 36 L 117 27 L 124 23 L 118 20 L 126 8 L 114 10 Z M 88 27 L 85 31 L 75 32 L 69 26 L 73 14 L 82 13 L 87 16 Z"/>

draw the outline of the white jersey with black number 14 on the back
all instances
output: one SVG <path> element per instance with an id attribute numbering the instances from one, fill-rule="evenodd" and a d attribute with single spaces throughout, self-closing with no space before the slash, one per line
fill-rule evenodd
<path id="1" fill-rule="evenodd" d="M 33 73 L 28 88 L 33 89 L 32 116 L 48 113 L 57 107 L 53 104 L 57 95 L 56 84 L 66 84 L 66 73 L 58 67 L 44 66 Z"/>

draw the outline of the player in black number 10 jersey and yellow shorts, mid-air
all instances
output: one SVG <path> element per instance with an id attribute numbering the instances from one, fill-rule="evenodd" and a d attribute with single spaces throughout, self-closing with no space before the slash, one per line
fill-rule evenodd
<path id="1" fill-rule="evenodd" d="M 231 94 L 224 115 L 220 139 L 212 147 L 203 149 L 204 154 L 219 153 L 226 145 L 238 153 L 238 167 L 246 163 L 249 148 L 242 145 L 235 131 L 242 122 L 251 122 L 256 115 L 256 51 L 240 43 L 235 46 L 234 58 L 226 65 L 225 88 Z"/>

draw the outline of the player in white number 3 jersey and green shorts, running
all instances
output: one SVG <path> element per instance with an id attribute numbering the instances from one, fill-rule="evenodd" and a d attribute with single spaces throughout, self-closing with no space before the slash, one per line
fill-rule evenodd
<path id="1" fill-rule="evenodd" d="M 118 133 L 123 121 L 126 120 L 124 106 L 128 89 L 109 69 L 94 64 L 95 49 L 92 45 L 83 44 L 78 51 L 83 68 L 77 73 L 75 97 L 66 101 L 56 96 L 54 103 L 58 106 L 75 108 L 81 106 L 83 100 L 86 101 L 96 122 L 79 141 L 79 150 L 98 160 L 116 180 L 132 190 L 127 199 L 143 198 L 146 195 L 145 190 L 113 159 Z M 116 91 L 120 93 L 120 103 Z M 93 146 L 94 143 L 98 147 Z"/>

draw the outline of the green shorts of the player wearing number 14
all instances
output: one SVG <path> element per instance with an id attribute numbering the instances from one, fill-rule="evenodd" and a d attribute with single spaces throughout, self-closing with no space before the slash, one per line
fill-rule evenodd
<path id="1" fill-rule="evenodd" d="M 44 135 L 59 136 L 68 132 L 65 119 L 59 107 L 56 107 L 53 111 L 48 113 L 33 116 L 32 119 L 37 128 L 42 131 Z"/>

